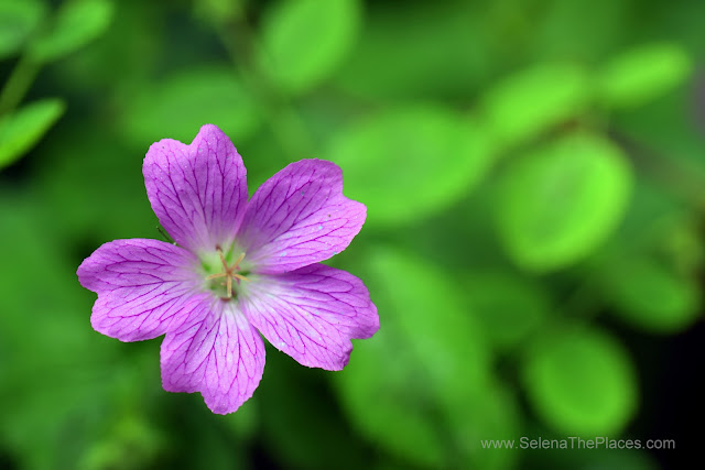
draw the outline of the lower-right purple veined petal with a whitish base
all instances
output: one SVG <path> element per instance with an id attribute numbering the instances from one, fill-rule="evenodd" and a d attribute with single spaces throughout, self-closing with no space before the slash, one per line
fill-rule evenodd
<path id="1" fill-rule="evenodd" d="M 312 368 L 343 369 L 350 339 L 369 338 L 379 329 L 377 307 L 362 281 L 323 264 L 257 276 L 240 304 L 276 349 Z"/>

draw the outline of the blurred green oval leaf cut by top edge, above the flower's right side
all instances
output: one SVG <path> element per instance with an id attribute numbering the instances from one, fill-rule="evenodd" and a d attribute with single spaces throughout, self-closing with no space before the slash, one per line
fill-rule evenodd
<path id="1" fill-rule="evenodd" d="M 283 0 L 264 17 L 260 65 L 275 85 L 302 94 L 335 70 L 360 26 L 358 0 Z"/>

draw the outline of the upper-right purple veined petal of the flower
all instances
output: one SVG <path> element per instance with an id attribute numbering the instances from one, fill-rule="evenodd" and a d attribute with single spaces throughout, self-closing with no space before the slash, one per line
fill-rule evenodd
<path id="1" fill-rule="evenodd" d="M 345 250 L 366 216 L 362 204 L 343 196 L 343 173 L 336 164 L 302 160 L 257 189 L 238 242 L 256 272 L 283 273 Z"/>

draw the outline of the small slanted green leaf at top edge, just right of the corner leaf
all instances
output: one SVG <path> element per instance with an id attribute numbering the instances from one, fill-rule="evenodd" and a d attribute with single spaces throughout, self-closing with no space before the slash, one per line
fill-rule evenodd
<path id="1" fill-rule="evenodd" d="M 37 62 L 55 61 L 96 37 L 110 25 L 113 4 L 109 0 L 66 1 L 45 34 L 34 41 L 30 54 Z"/>

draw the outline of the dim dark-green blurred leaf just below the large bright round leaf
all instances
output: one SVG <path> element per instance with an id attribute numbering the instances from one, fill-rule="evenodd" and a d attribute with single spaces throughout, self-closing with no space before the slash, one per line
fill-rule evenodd
<path id="1" fill-rule="evenodd" d="M 541 285 L 516 274 L 475 272 L 463 287 L 468 310 L 497 349 L 516 346 L 549 315 L 549 298 Z"/>

